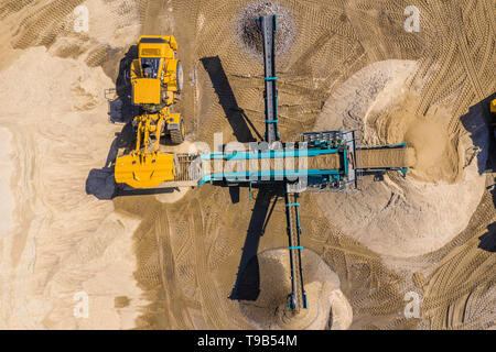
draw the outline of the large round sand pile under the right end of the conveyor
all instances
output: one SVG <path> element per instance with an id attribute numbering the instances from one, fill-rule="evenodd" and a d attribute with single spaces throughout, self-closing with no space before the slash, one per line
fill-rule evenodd
<path id="1" fill-rule="evenodd" d="M 462 231 L 484 191 L 474 141 L 487 131 L 468 134 L 455 129 L 448 107 L 417 112 L 418 98 L 406 82 L 416 65 L 388 61 L 355 74 L 333 95 L 316 129 L 362 128 L 365 144 L 408 142 L 416 163 L 406 179 L 364 180 L 358 194 L 325 194 L 317 202 L 330 221 L 379 254 L 414 256 L 432 252 Z M 332 111 L 332 113 L 330 113 Z M 341 119 L 339 119 L 341 117 Z M 474 117 L 474 122 L 477 117 Z"/>

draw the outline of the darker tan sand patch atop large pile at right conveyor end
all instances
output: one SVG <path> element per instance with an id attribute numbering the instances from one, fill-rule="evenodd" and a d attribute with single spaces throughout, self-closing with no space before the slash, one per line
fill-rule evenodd
<path id="1" fill-rule="evenodd" d="M 365 142 L 388 144 L 405 141 L 416 150 L 412 177 L 431 183 L 453 184 L 460 180 L 464 152 L 470 145 L 460 145 L 460 132 L 450 131 L 452 116 L 448 108 L 436 106 L 425 117 L 419 116 L 416 112 L 420 101 L 417 95 L 409 90 L 395 94 L 389 89 L 379 95 L 365 118 Z"/>

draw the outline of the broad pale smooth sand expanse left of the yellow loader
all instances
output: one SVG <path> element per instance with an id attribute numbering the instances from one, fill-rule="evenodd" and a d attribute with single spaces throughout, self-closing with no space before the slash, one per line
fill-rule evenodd
<path id="1" fill-rule="evenodd" d="M 120 130 L 108 123 L 101 94 L 111 80 L 44 47 L 25 51 L 0 79 L 9 87 L 0 101 L 0 326 L 132 328 L 143 304 L 132 277 L 140 221 L 85 191 L 89 169 L 104 166 Z M 73 315 L 79 292 L 88 295 L 88 318 Z M 116 309 L 123 296 L 128 307 Z"/>

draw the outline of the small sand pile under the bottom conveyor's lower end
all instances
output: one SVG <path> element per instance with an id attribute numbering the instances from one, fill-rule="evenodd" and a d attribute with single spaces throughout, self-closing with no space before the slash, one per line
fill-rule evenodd
<path id="1" fill-rule="evenodd" d="M 287 309 L 287 296 L 291 293 L 289 263 L 287 250 L 268 250 L 248 264 L 239 288 L 244 295 L 255 293 L 255 300 L 240 302 L 248 320 L 259 329 L 347 329 L 353 312 L 339 289 L 339 278 L 309 250 L 302 252 L 309 309 L 299 314 Z"/>

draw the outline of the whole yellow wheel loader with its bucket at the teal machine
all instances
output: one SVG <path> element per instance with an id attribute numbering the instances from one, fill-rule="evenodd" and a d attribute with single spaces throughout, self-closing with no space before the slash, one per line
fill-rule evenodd
<path id="1" fill-rule="evenodd" d="M 136 147 L 116 160 L 118 184 L 148 188 L 174 179 L 174 155 L 159 152 L 159 145 L 161 138 L 181 144 L 185 136 L 181 114 L 170 109 L 183 89 L 183 68 L 176 52 L 172 35 L 143 35 L 138 40 L 138 58 L 130 67 L 132 103 L 140 109 L 132 121 Z"/>

